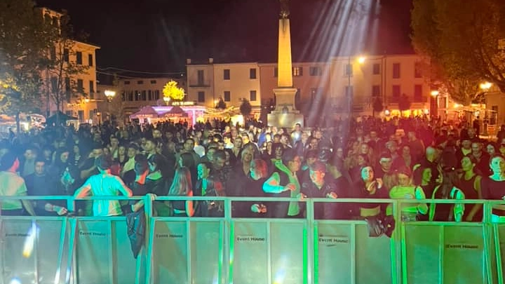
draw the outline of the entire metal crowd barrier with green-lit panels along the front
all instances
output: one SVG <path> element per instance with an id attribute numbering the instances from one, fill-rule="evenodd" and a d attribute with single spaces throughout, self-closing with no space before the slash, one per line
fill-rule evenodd
<path id="1" fill-rule="evenodd" d="M 0 196 L 67 200 L 71 196 Z M 490 222 L 504 201 L 310 199 L 299 219 L 237 218 L 237 201 L 292 198 L 159 196 L 156 201 L 224 201 L 224 217 L 155 217 L 145 196 L 146 239 L 135 259 L 125 217 L 1 216 L 0 284 L 272 283 L 504 284 L 505 225 Z M 368 236 L 363 220 L 314 219 L 320 203 L 392 203 L 396 229 Z M 483 222 L 403 222 L 403 203 L 483 203 Z"/>

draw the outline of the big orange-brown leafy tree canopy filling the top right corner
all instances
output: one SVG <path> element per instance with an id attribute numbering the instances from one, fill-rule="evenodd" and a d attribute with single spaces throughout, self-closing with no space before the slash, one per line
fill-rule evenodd
<path id="1" fill-rule="evenodd" d="M 505 1 L 414 0 L 412 45 L 431 62 L 432 79 L 459 102 L 478 83 L 505 91 Z"/>

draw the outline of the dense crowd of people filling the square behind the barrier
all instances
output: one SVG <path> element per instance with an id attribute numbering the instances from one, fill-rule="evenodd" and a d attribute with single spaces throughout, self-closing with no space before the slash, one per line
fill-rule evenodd
<path id="1" fill-rule="evenodd" d="M 349 126 L 350 124 L 350 126 Z M 234 217 L 304 217 L 305 198 L 398 198 L 402 219 L 480 222 L 481 204 L 505 198 L 505 129 L 483 140 L 466 121 L 365 118 L 332 128 L 233 126 L 224 121 L 115 127 L 81 125 L 20 133 L 0 143 L 1 196 L 151 196 L 157 216 L 222 217 L 216 201 L 156 196 L 248 196 Z M 262 202 L 263 197 L 292 201 Z M 429 199 L 454 199 L 454 204 Z M 144 201 L 0 200 L 1 215 L 117 216 Z M 499 221 L 505 206 L 492 217 Z M 388 203 L 315 203 L 316 219 L 391 215 Z"/>

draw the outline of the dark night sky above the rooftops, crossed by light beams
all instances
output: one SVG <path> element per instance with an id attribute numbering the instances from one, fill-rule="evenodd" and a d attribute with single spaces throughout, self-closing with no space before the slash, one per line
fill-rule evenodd
<path id="1" fill-rule="evenodd" d="M 345 53 L 328 47 L 340 40 L 339 27 L 332 24 L 335 15 L 328 11 L 331 5 L 346 1 L 357 0 L 290 0 L 293 61 L 326 60 L 331 55 Z M 412 53 L 411 0 L 362 1 L 379 7 L 378 15 L 373 16 L 379 28 L 374 36 L 364 36 L 362 50 L 370 54 Z M 278 0 L 39 0 L 36 3 L 56 11 L 69 11 L 76 32 L 87 32 L 88 41 L 101 46 L 97 51 L 100 68 L 183 72 L 186 58 L 212 57 L 215 62 L 276 60 Z"/>

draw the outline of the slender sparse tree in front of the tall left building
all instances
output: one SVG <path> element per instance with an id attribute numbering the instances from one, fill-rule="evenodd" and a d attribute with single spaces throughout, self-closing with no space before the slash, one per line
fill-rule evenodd
<path id="1" fill-rule="evenodd" d="M 43 57 L 47 76 L 46 95 L 53 100 L 56 110 L 62 111 L 65 102 L 70 102 L 72 97 L 88 98 L 83 91 L 83 81 L 79 81 L 78 77 L 86 74 L 89 67 L 82 64 L 83 54 L 78 55 L 79 51 L 75 48 L 79 43 L 74 40 L 74 29 L 67 11 L 62 11 L 58 19 L 47 14 L 43 17 L 45 22 L 52 23 L 50 34 L 53 41 L 53 46 L 46 50 Z M 86 36 L 81 36 L 80 40 L 85 41 Z"/>

